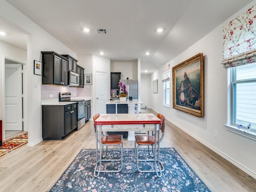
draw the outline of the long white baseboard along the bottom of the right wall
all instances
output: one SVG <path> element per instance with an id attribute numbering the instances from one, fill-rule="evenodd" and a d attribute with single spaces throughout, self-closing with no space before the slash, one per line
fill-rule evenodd
<path id="1" fill-rule="evenodd" d="M 154 112 L 156 112 L 154 109 L 152 109 Z M 212 151 L 216 152 L 217 154 L 219 154 L 220 156 L 222 156 L 224 159 L 228 160 L 230 163 L 234 164 L 235 166 L 237 166 L 238 168 L 240 168 L 241 170 L 243 170 L 244 172 L 246 172 L 247 174 L 249 174 L 250 176 L 252 176 L 253 178 L 256 179 L 256 173 L 253 172 L 252 170 L 248 169 L 247 167 L 243 166 L 242 164 L 240 164 L 239 162 L 237 162 L 236 160 L 234 160 L 233 158 L 230 158 L 230 156 L 222 153 L 220 150 L 214 148 L 213 146 L 211 146 L 210 144 L 206 143 L 204 140 L 201 140 L 200 138 L 198 138 L 196 135 L 192 134 L 191 132 L 189 132 L 188 130 L 184 129 L 183 127 L 179 126 L 178 124 L 176 124 L 175 122 L 173 122 L 172 120 L 166 118 L 166 120 L 168 122 L 170 122 L 170 124 L 175 125 L 176 127 L 180 128 L 181 130 L 183 130 L 184 132 L 186 132 L 187 134 L 189 134 L 190 136 L 192 136 L 193 138 L 195 138 L 196 140 L 198 140 L 200 143 L 204 144 L 206 147 L 210 148 Z"/>

